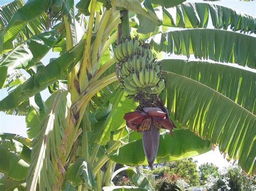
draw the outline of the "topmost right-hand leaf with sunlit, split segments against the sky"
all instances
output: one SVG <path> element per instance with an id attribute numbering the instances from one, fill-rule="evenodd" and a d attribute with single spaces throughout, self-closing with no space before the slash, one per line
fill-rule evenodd
<path id="1" fill-rule="evenodd" d="M 230 26 L 233 31 L 256 33 L 254 17 L 224 6 L 208 3 L 183 3 L 177 5 L 174 10 L 163 8 L 163 25 L 203 28 L 207 27 L 210 16 L 215 29 L 227 30 Z"/>

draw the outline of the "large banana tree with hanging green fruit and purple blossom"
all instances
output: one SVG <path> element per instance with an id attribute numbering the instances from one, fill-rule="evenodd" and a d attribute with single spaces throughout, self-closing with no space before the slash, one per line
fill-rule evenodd
<path id="1" fill-rule="evenodd" d="M 136 168 L 114 172 L 116 162 L 152 165 L 216 145 L 255 173 L 255 18 L 184 0 L 17 0 L 0 10 L 9 91 L 0 110 L 26 115 L 28 128 L 28 138 L 0 136 L 1 188 L 153 189 Z M 51 49 L 59 57 L 43 65 Z M 163 52 L 188 60 L 157 59 Z M 112 185 L 122 170 L 136 187 Z"/>

